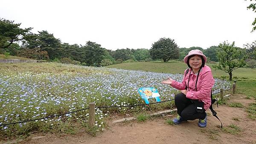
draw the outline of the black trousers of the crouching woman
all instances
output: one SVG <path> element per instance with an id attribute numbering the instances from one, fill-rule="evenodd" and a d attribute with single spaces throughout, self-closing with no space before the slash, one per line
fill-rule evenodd
<path id="1" fill-rule="evenodd" d="M 175 96 L 175 106 L 177 107 L 177 113 L 186 120 L 204 119 L 206 117 L 204 112 L 196 112 L 195 103 L 192 103 L 191 99 L 186 98 L 186 95 L 179 93 Z"/>

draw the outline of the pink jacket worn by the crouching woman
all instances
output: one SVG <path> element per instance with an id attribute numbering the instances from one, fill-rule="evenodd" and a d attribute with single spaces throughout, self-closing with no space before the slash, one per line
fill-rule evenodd
<path id="1" fill-rule="evenodd" d="M 175 89 L 183 90 L 186 88 L 186 84 L 189 81 L 189 91 L 186 94 L 186 98 L 189 99 L 198 99 L 204 102 L 204 109 L 207 110 L 211 106 L 211 90 L 214 85 L 214 79 L 212 76 L 212 70 L 209 66 L 204 66 L 199 73 L 198 82 L 197 82 L 197 91 L 195 89 L 196 77 L 192 69 L 189 69 L 189 72 L 186 75 L 186 70 L 184 72 L 184 77 L 181 83 L 173 81 L 171 86 Z M 189 73 L 190 78 L 189 78 Z M 187 89 L 188 90 L 188 89 Z"/>

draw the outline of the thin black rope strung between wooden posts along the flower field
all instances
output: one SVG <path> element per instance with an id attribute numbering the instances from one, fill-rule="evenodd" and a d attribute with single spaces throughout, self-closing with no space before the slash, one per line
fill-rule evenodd
<path id="1" fill-rule="evenodd" d="M 230 89 L 232 89 L 232 88 L 230 88 Z M 224 90 L 224 91 L 228 91 L 230 89 L 227 89 L 227 90 Z M 218 93 L 220 93 L 220 92 L 214 93 L 212 95 L 215 95 L 215 94 L 218 94 Z M 160 102 L 155 102 L 155 103 L 150 103 L 150 104 L 159 104 L 159 103 L 163 103 L 163 102 L 167 102 L 167 101 L 173 101 L 173 100 L 174 99 L 169 99 L 169 100 L 166 100 L 166 101 L 160 101 Z M 95 108 L 137 107 L 137 106 L 145 106 L 145 105 L 150 105 L 150 104 L 135 104 L 135 105 L 129 105 L 129 106 L 102 106 L 102 107 L 95 107 Z M 61 115 L 67 115 L 67 114 L 70 114 L 70 113 L 79 112 L 79 111 L 86 110 L 86 109 L 89 109 L 89 107 L 84 108 L 84 109 L 79 109 L 79 110 L 76 110 L 76 111 L 72 111 L 72 112 L 66 112 L 66 113 L 59 114 L 59 115 L 52 115 L 52 116 L 48 116 L 48 117 L 44 117 L 44 118 L 25 120 L 25 121 L 19 121 L 19 122 L 8 123 L 8 124 L 0 124 L 0 127 L 11 125 L 11 124 L 20 124 L 20 123 L 25 123 L 25 122 L 29 122 L 29 121 L 38 121 L 38 120 L 41 120 L 41 119 L 53 118 L 53 117 L 57 117 L 57 116 L 61 116 Z"/>

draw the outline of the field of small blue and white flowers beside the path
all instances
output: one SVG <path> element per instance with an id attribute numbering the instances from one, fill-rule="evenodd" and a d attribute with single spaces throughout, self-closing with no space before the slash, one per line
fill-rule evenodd
<path id="1" fill-rule="evenodd" d="M 14 65 L 14 64 L 13 64 Z M 23 66 L 29 64 L 23 64 Z M 31 65 L 31 64 L 30 64 Z M 0 124 L 8 124 L 24 120 L 44 118 L 59 115 L 88 107 L 90 102 L 96 106 L 127 106 L 144 104 L 140 98 L 140 87 L 155 87 L 158 89 L 161 101 L 173 99 L 178 92 L 171 86 L 161 84 L 166 78 L 182 81 L 183 75 L 144 72 L 110 68 L 95 68 L 87 66 L 67 65 L 60 63 L 37 63 L 47 70 L 20 70 L 22 65 L 3 66 L 0 71 Z M 0 65 L 1 66 L 1 65 Z M 15 70 L 14 68 L 15 67 Z M 51 69 L 58 70 L 51 71 Z M 17 70 L 16 70 L 17 69 Z M 44 68 L 46 69 L 46 68 Z M 78 72 L 67 69 L 79 69 Z M 213 93 L 221 88 L 229 89 L 230 82 L 215 79 Z M 155 102 L 154 100 L 150 101 Z M 156 106 L 157 105 L 157 106 Z M 170 109 L 173 101 L 150 105 L 152 109 Z M 99 130 L 106 127 L 105 119 L 111 112 L 140 112 L 140 107 L 119 107 L 96 109 L 96 124 Z M 25 135 L 29 132 L 70 132 L 77 126 L 86 127 L 88 109 L 79 112 L 12 124 L 0 127 L 1 137 Z"/>

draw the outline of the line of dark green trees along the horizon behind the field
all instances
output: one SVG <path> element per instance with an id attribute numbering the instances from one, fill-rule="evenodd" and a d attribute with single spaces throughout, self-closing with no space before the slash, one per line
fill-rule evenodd
<path id="1" fill-rule="evenodd" d="M 218 46 L 207 49 L 201 47 L 179 48 L 175 40 L 160 38 L 152 43 L 150 49 L 117 49 L 115 51 L 102 48 L 96 42 L 87 41 L 84 46 L 62 43 L 47 30 L 32 33 L 32 28 L 20 28 L 21 23 L 0 18 L 0 53 L 32 58 L 37 60 L 60 61 L 63 63 L 82 64 L 87 66 L 107 66 L 111 64 L 162 60 L 180 60 L 192 49 L 200 49 L 207 56 L 208 61 L 218 62 Z M 246 45 L 247 52 L 241 48 L 241 56 L 249 55 L 247 61 L 256 59 L 256 43 Z M 253 63 L 253 62 L 252 62 Z M 254 62 L 255 63 L 255 62 Z M 251 64 L 253 67 L 253 64 Z M 254 66 L 255 67 L 255 66 Z"/>

